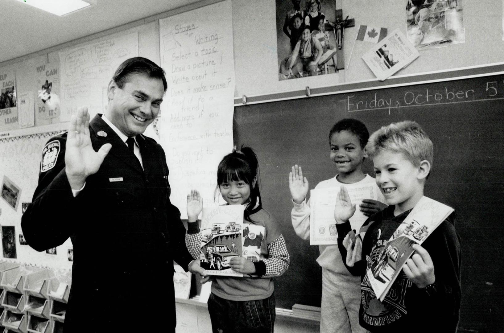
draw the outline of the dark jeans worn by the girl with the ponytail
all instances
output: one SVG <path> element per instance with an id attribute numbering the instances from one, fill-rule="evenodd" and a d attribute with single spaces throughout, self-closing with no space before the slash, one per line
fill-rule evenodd
<path id="1" fill-rule="evenodd" d="M 211 293 L 208 312 L 213 333 L 273 333 L 275 296 L 257 301 L 229 301 Z"/>

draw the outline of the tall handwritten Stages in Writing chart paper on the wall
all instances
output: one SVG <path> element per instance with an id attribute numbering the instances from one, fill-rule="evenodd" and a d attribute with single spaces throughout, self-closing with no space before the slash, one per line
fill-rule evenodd
<path id="1" fill-rule="evenodd" d="M 231 1 L 159 21 L 168 90 L 160 137 L 170 168 L 171 202 L 186 218 L 186 195 L 216 206 L 217 165 L 231 152 L 234 60 Z"/>

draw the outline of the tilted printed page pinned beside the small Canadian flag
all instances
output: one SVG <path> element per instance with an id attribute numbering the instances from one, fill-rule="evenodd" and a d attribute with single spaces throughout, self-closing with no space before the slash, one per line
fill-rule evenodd
<path id="1" fill-rule="evenodd" d="M 362 59 L 376 78 L 384 81 L 418 56 L 415 46 L 399 29 L 396 29 L 364 53 Z"/>

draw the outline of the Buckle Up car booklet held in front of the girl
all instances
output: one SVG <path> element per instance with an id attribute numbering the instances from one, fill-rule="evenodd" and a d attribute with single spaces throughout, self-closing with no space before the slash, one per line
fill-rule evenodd
<path id="1" fill-rule="evenodd" d="M 209 275 L 242 277 L 229 266 L 242 253 L 243 206 L 205 207 L 201 219 L 201 267 Z"/>

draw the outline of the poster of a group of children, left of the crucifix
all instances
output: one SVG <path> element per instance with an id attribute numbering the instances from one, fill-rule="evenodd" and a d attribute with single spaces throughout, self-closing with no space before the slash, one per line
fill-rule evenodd
<path id="1" fill-rule="evenodd" d="M 336 73 L 336 1 L 276 0 L 278 79 Z"/>

